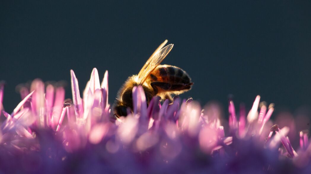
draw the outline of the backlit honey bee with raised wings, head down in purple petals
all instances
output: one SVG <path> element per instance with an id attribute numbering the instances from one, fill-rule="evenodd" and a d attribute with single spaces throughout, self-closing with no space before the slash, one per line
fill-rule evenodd
<path id="1" fill-rule="evenodd" d="M 191 89 L 193 83 L 187 72 L 172 65 L 160 65 L 174 46 L 173 44 L 165 46 L 166 43 L 167 40 L 155 50 L 138 75 L 128 77 L 119 89 L 118 97 L 114 102 L 116 117 L 126 116 L 128 108 L 133 110 L 132 89 L 134 86 L 142 85 L 147 104 L 154 96 L 172 101 L 172 94 L 178 95 Z"/>

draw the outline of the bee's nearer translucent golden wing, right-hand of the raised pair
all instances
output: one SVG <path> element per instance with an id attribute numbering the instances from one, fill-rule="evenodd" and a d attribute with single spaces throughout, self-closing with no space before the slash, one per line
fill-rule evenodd
<path id="1" fill-rule="evenodd" d="M 162 46 L 162 45 L 160 45 Z M 159 47 L 160 47 L 159 46 Z M 164 48 L 162 48 L 161 50 L 155 52 L 149 59 L 147 62 L 148 65 L 146 65 L 146 68 L 143 68 L 139 73 L 138 73 L 138 84 L 143 84 L 145 82 L 145 80 L 147 79 L 147 77 L 149 76 L 149 74 L 158 66 L 160 65 L 160 63 L 163 61 L 163 59 L 167 56 L 167 54 L 169 54 L 169 52 L 172 50 L 173 48 L 173 44 L 169 44 L 167 46 L 165 46 Z"/>

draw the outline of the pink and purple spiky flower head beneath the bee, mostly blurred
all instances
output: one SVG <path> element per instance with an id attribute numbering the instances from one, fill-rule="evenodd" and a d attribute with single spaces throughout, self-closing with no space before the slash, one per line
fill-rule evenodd
<path id="1" fill-rule="evenodd" d="M 229 121 L 216 103 L 203 110 L 192 99 L 174 98 L 147 107 L 133 88 L 133 113 L 117 118 L 108 104 L 108 72 L 100 84 L 94 68 L 80 97 L 71 70 L 72 100 L 63 87 L 34 80 L 11 114 L 3 110 L 0 83 L 2 173 L 310 173 L 308 131 L 295 150 L 290 127 L 272 126 L 273 105 L 257 96 L 239 114 L 229 101 Z"/>

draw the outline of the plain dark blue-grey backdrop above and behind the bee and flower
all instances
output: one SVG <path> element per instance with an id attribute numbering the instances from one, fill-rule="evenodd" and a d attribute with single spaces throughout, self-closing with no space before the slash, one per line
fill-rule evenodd
<path id="1" fill-rule="evenodd" d="M 93 67 L 109 71 L 109 102 L 165 39 L 163 64 L 183 68 L 193 89 L 182 98 L 251 107 L 256 95 L 276 111 L 311 107 L 311 1 L 2 1 L 0 79 L 4 108 L 15 87 L 35 78 L 84 89 Z"/>

